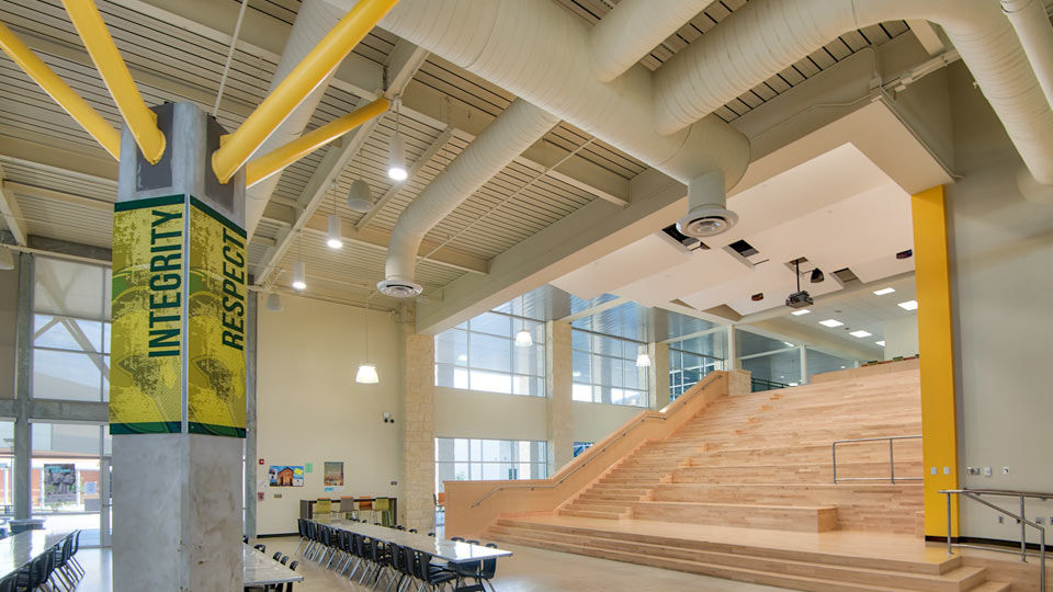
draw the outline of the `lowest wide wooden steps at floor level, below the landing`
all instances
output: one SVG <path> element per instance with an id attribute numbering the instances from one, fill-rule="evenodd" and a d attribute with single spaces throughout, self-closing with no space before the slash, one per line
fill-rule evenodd
<path id="1" fill-rule="evenodd" d="M 502 543 L 794 590 L 1004 592 L 1009 589 L 1003 582 L 987 582 L 984 568 L 963 567 L 958 557 L 941 563 L 854 558 L 517 520 L 499 520 L 487 536 Z"/>

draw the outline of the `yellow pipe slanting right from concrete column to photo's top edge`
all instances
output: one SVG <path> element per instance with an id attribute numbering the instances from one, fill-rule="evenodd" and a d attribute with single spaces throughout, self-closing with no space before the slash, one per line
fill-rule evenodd
<path id="1" fill-rule="evenodd" d="M 67 0 L 68 1 L 68 0 Z M 329 76 L 398 0 L 361 0 L 293 69 L 212 155 L 212 169 L 226 183 L 263 140 Z"/>

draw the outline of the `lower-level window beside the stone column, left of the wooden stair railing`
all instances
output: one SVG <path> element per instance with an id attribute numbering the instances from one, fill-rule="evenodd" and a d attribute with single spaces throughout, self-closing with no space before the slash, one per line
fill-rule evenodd
<path id="1" fill-rule="evenodd" d="M 443 481 L 545 479 L 547 443 L 531 440 L 435 439 L 435 491 Z"/>

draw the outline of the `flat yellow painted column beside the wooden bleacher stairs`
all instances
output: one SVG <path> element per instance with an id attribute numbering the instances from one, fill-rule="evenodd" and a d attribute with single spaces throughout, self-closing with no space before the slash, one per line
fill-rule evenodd
<path id="1" fill-rule="evenodd" d="M 921 436 L 925 460 L 925 534 L 947 536 L 947 496 L 958 489 L 954 405 L 954 333 L 943 186 L 914 195 L 914 265 L 921 354 Z M 951 499 L 951 536 L 959 534 L 958 499 Z"/>

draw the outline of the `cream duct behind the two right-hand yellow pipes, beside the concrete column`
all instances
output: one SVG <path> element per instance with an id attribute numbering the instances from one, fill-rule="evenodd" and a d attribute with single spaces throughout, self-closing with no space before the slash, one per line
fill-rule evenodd
<path id="1" fill-rule="evenodd" d="M 296 21 L 293 23 L 293 30 L 290 32 L 288 39 L 285 42 L 285 48 L 282 50 L 282 57 L 278 62 L 278 68 L 274 70 L 274 77 L 271 79 L 271 88 L 268 92 L 273 91 L 274 88 L 293 71 L 293 68 L 299 65 L 301 60 L 318 45 L 318 42 L 320 42 L 322 37 L 337 25 L 348 10 L 354 5 L 354 2 L 349 1 L 344 2 L 344 4 L 347 5 L 340 9 L 324 0 L 304 0 L 303 3 L 301 3 L 299 11 L 296 13 Z M 332 73 L 330 72 L 329 77 L 318 84 L 318 87 L 285 117 L 285 121 L 274 129 L 267 138 L 267 141 L 260 145 L 254 153 L 265 155 L 298 138 L 304 133 L 308 122 L 310 122 L 310 117 L 314 115 L 318 102 L 321 101 L 321 98 L 326 94 L 326 89 L 329 88 L 329 81 L 331 79 Z M 281 178 L 281 173 L 272 174 L 245 191 L 245 226 L 249 236 L 252 236 L 252 232 L 256 231 L 256 226 L 260 223 L 260 218 L 263 217 L 263 209 L 271 198 L 271 193 L 274 192 L 274 187 L 278 186 Z"/>

